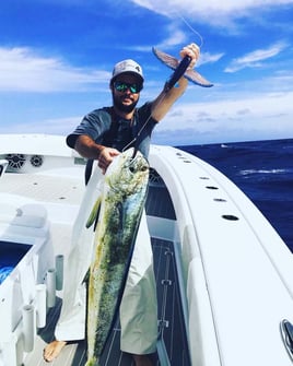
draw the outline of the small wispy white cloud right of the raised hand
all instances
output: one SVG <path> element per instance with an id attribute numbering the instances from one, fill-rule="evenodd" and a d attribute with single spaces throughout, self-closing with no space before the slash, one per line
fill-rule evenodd
<path id="1" fill-rule="evenodd" d="M 257 49 L 243 57 L 232 60 L 231 64 L 224 70 L 225 72 L 236 72 L 244 68 L 257 68 L 262 66 L 261 61 L 278 56 L 284 48 L 285 44 L 279 43 L 267 49 Z"/>

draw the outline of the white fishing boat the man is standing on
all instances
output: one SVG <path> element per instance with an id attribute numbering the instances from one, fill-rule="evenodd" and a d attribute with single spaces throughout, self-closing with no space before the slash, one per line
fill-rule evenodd
<path id="1" fill-rule="evenodd" d="M 0 243 L 28 248 L 0 285 L 0 365 L 43 365 L 85 162 L 65 138 L 39 134 L 0 135 Z M 292 365 L 293 258 L 285 244 L 211 165 L 159 145 L 150 165 L 157 365 Z M 85 352 L 85 342 L 70 343 L 54 365 L 83 365 Z M 131 365 L 119 352 L 119 322 L 106 352 L 102 365 Z"/>

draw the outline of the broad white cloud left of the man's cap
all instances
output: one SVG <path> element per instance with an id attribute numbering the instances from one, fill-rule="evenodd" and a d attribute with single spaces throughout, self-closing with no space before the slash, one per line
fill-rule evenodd
<path id="1" fill-rule="evenodd" d="M 81 92 L 109 76 L 106 71 L 86 72 L 60 59 L 38 56 L 30 48 L 0 48 L 1 92 Z"/>

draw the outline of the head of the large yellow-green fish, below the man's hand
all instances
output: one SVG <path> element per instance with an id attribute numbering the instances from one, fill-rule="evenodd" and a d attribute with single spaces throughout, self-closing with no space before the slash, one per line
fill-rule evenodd
<path id="1" fill-rule="evenodd" d="M 146 188 L 149 170 L 149 163 L 142 153 L 130 147 L 115 156 L 107 168 L 105 181 L 110 189 L 132 194 Z"/>

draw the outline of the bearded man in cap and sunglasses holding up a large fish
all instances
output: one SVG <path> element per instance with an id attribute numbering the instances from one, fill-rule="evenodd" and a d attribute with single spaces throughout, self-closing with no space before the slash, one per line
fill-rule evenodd
<path id="1" fill-rule="evenodd" d="M 185 56 L 191 58 L 189 68 L 192 68 L 199 58 L 198 46 L 190 44 L 184 47 L 180 50 L 180 57 Z M 109 83 L 113 106 L 95 109 L 86 115 L 81 125 L 67 138 L 70 147 L 75 149 L 86 158 L 96 160 L 103 174 L 113 158 L 127 147 L 134 145 L 148 157 L 153 128 L 183 95 L 188 84 L 188 81 L 181 78 L 176 87 L 167 92 L 163 90 L 153 102 L 137 108 L 143 82 L 142 69 L 137 62 L 133 60 L 118 62 Z M 69 317 L 69 319 L 73 318 Z M 136 366 L 152 366 L 148 354 L 155 351 L 156 321 L 152 250 L 146 220 L 143 215 L 120 305 L 120 346 L 124 352 L 132 354 Z M 59 355 L 67 341 L 84 337 L 81 331 L 74 337 L 74 331 L 71 331 L 73 328 L 69 322 L 65 321 L 63 327 L 62 321 L 59 322 L 60 329 L 57 326 L 56 341 L 49 343 L 44 350 L 44 358 L 47 362 L 51 362 Z"/>

